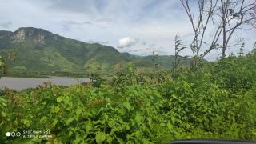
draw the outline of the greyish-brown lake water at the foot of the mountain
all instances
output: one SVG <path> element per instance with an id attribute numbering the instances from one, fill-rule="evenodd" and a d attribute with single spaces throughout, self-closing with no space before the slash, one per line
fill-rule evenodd
<path id="1" fill-rule="evenodd" d="M 80 82 L 90 82 L 90 78 L 78 78 Z M 58 86 L 71 86 L 78 84 L 76 78 L 67 77 L 53 77 L 53 78 L 13 78 L 2 77 L 0 78 L 0 89 L 5 86 L 12 90 L 24 90 L 27 88 L 36 88 L 38 85 L 42 85 L 43 82 L 51 82 L 52 85 Z"/>

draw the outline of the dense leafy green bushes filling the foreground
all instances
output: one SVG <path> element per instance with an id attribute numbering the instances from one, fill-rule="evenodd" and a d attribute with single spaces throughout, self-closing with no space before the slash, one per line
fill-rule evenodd
<path id="1" fill-rule="evenodd" d="M 52 138 L 1 142 L 166 143 L 184 138 L 256 140 L 256 53 L 170 71 L 117 66 L 105 82 L 16 93 L 3 90 L 1 136 L 50 130 Z M 97 79 L 97 78 L 96 78 Z"/>

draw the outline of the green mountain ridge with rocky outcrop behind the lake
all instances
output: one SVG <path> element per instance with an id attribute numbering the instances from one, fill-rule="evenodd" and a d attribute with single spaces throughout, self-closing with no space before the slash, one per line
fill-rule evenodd
<path id="1" fill-rule="evenodd" d="M 134 62 L 138 67 L 153 67 L 159 63 L 170 68 L 173 56 L 135 56 L 120 53 L 111 46 L 90 44 L 33 27 L 22 27 L 11 32 L 0 30 L 0 54 L 15 51 L 16 62 L 8 62 L 9 74 L 84 74 L 100 66 L 104 72 L 114 70 L 118 63 Z M 180 57 L 182 58 L 182 57 Z M 187 58 L 182 58 L 188 64 Z"/>

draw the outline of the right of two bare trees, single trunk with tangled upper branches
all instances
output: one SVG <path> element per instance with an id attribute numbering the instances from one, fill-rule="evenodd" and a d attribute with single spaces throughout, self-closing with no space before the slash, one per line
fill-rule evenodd
<path id="1" fill-rule="evenodd" d="M 255 0 L 250 2 L 245 0 L 221 0 L 216 15 L 221 18 L 222 57 L 226 56 L 226 49 L 229 47 L 234 32 L 255 20 L 254 15 L 252 15 L 255 9 Z"/>

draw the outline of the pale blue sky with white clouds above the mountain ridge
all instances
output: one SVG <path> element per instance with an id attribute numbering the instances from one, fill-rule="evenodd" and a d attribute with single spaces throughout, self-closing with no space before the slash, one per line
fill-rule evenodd
<path id="1" fill-rule="evenodd" d="M 32 26 L 139 55 L 174 54 L 176 34 L 190 43 L 190 23 L 179 0 L 0 0 L 0 6 L 0 30 Z M 245 38 L 247 51 L 256 41 L 255 30 L 237 35 Z"/>

